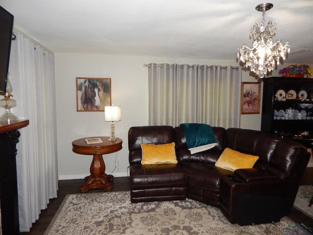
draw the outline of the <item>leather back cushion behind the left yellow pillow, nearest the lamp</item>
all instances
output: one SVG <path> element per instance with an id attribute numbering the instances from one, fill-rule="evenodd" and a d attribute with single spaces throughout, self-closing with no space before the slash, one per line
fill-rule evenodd
<path id="1" fill-rule="evenodd" d="M 128 131 L 129 163 L 141 163 L 141 144 L 164 144 L 175 142 L 172 126 L 136 126 Z"/>

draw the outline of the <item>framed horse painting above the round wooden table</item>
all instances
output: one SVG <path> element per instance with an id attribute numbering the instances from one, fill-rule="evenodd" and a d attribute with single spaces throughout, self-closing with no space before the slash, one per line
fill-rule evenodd
<path id="1" fill-rule="evenodd" d="M 104 112 L 111 105 L 111 78 L 76 77 L 77 112 Z"/>

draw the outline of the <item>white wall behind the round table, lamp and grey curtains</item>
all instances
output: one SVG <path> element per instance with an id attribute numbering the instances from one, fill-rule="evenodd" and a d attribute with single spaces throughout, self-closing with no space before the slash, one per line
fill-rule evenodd
<path id="1" fill-rule="evenodd" d="M 75 179 L 89 175 L 92 156 L 73 153 L 72 141 L 85 137 L 110 136 L 110 123 L 104 121 L 103 112 L 76 112 L 76 77 L 112 79 L 112 104 L 120 105 L 122 108 L 122 120 L 115 122 L 115 136 L 123 140 L 123 148 L 103 157 L 106 173 L 112 173 L 115 158 L 118 156 L 120 164 L 113 175 L 126 176 L 129 165 L 128 130 L 131 126 L 148 125 L 148 70 L 142 66 L 143 63 L 238 66 L 235 56 L 234 60 L 209 61 L 55 53 L 59 178 Z M 246 72 L 243 73 L 242 80 L 256 81 Z M 261 115 L 242 115 L 241 119 L 242 128 L 260 130 Z"/>

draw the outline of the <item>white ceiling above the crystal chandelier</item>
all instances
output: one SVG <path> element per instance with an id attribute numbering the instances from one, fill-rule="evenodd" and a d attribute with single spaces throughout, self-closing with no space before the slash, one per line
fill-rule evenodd
<path id="1" fill-rule="evenodd" d="M 313 0 L 270 0 L 265 22 L 291 50 L 313 49 Z M 261 0 L 0 0 L 14 26 L 54 52 L 234 59 L 262 22 Z M 313 64 L 313 50 L 287 63 Z"/>

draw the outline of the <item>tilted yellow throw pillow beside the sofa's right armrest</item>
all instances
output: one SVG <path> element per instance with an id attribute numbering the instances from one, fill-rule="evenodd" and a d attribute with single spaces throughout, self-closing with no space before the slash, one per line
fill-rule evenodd
<path id="1" fill-rule="evenodd" d="M 225 148 L 215 166 L 235 171 L 236 169 L 252 168 L 258 156 L 241 153 L 230 148 Z"/>

